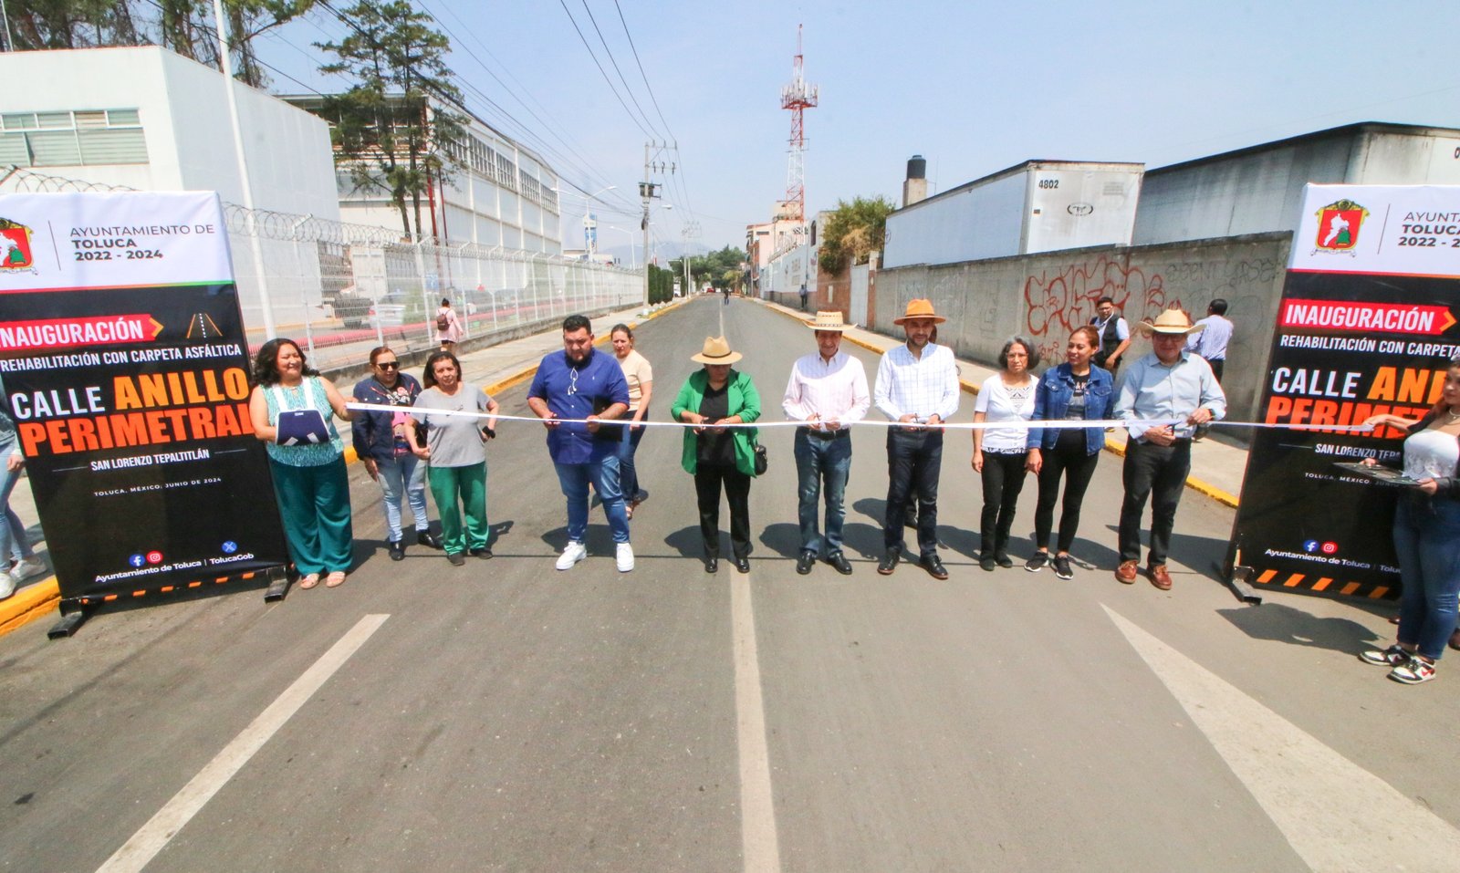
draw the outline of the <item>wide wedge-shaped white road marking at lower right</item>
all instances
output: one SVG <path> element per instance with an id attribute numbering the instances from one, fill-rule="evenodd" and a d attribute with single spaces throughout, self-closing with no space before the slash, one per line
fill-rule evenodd
<path id="1" fill-rule="evenodd" d="M 1313 870 L 1456 869 L 1453 825 L 1110 607 L 1105 613 Z"/>

